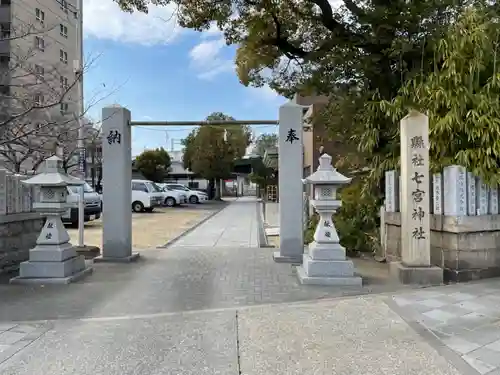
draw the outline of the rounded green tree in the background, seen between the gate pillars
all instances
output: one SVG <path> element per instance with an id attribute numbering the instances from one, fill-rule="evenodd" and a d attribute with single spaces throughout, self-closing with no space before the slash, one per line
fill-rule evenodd
<path id="1" fill-rule="evenodd" d="M 228 121 L 233 117 L 220 112 L 210 114 L 206 121 Z M 221 179 L 230 177 L 233 163 L 245 155 L 251 132 L 243 125 L 203 125 L 183 141 L 184 167 L 215 184 L 215 199 L 221 197 Z"/>

